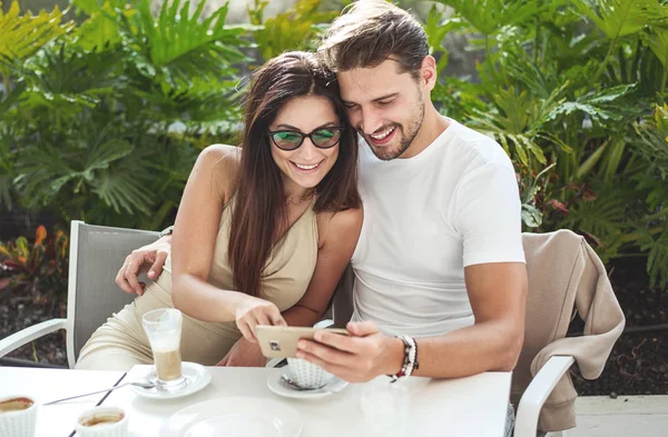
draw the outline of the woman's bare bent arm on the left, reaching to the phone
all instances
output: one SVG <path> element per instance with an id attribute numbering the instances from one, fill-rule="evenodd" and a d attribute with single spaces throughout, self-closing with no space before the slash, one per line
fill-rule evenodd
<path id="1" fill-rule="evenodd" d="M 242 334 L 254 339 L 252 328 L 239 322 L 253 316 L 258 322 L 282 325 L 275 305 L 208 284 L 223 207 L 232 198 L 238 149 L 209 146 L 197 158 L 176 216 L 171 239 L 171 299 L 188 316 L 204 321 L 237 320 Z"/>

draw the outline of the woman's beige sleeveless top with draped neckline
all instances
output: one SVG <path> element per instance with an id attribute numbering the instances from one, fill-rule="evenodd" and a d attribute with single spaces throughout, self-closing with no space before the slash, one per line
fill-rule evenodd
<path id="1" fill-rule="evenodd" d="M 306 211 L 274 245 L 263 270 L 261 297 L 272 301 L 281 311 L 291 308 L 304 296 L 315 270 L 318 236 L 316 213 L 313 210 L 314 202 L 315 198 Z M 227 250 L 233 203 L 234 199 L 223 209 L 208 278 L 209 284 L 224 290 L 235 289 Z M 167 257 L 165 270 L 171 274 L 171 256 Z M 165 275 L 160 276 L 158 282 L 161 282 L 163 276 Z"/>

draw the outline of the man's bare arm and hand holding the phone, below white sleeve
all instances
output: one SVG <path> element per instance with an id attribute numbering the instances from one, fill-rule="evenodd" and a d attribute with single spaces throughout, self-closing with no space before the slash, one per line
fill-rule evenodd
<path id="1" fill-rule="evenodd" d="M 522 262 L 469 266 L 464 269 L 475 317 L 471 327 L 420 338 L 416 376 L 454 378 L 488 370 L 511 370 L 524 330 L 527 269 Z M 372 322 L 351 322 L 352 337 L 318 332 L 316 341 L 299 341 L 303 358 L 347 381 L 367 381 L 401 369 L 401 339 L 381 334 Z"/>

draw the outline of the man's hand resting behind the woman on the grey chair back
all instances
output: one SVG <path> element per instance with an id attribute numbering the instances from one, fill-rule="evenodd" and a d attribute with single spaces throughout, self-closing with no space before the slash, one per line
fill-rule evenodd
<path id="1" fill-rule="evenodd" d="M 118 270 L 116 284 L 125 292 L 144 295 L 146 284 L 139 282 L 138 277 L 146 270 L 149 270 L 148 278 L 151 280 L 156 280 L 160 276 L 167 255 L 171 249 L 170 239 L 171 236 L 163 237 L 148 246 L 132 250 Z"/>

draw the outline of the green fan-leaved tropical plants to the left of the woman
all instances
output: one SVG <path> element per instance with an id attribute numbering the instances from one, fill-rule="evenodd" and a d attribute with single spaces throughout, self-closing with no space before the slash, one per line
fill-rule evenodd
<path id="1" fill-rule="evenodd" d="M 159 228 L 198 151 L 235 135 L 244 30 L 225 26 L 227 7 L 203 18 L 204 2 L 72 6 L 79 27 L 3 63 L 0 208 Z"/>

